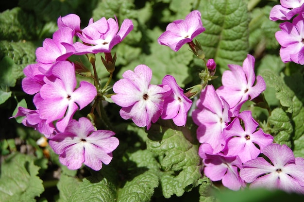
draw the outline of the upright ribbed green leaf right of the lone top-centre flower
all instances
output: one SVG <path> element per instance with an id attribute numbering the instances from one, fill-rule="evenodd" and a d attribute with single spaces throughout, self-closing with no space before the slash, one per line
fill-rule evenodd
<path id="1" fill-rule="evenodd" d="M 206 58 L 214 58 L 222 68 L 228 64 L 241 65 L 249 50 L 250 16 L 245 1 L 202 1 L 198 10 L 206 31 L 196 39 L 201 42 Z"/>

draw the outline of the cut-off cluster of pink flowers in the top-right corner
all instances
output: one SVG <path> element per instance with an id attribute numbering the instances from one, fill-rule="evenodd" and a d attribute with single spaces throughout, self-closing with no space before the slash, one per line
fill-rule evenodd
<path id="1" fill-rule="evenodd" d="M 284 63 L 294 62 L 304 65 L 304 1 L 281 0 L 270 11 L 270 20 L 285 20 L 275 38 L 281 45 L 280 56 Z M 296 16 L 296 17 L 294 17 Z M 292 19 L 292 17 L 294 17 Z M 289 22 L 287 20 L 291 20 Z"/>

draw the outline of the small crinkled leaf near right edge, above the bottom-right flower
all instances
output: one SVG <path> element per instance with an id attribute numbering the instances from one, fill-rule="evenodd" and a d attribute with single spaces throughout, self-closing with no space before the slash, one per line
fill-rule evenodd
<path id="1" fill-rule="evenodd" d="M 274 141 L 278 144 L 286 144 L 288 147 L 291 147 L 293 128 L 286 112 L 281 108 L 272 110 L 271 116 L 268 118 L 268 124 L 271 126 L 269 129 L 270 133 L 274 134 Z"/>

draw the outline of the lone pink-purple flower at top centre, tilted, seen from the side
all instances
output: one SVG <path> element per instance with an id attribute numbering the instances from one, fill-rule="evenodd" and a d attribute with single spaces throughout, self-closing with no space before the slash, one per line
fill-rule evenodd
<path id="1" fill-rule="evenodd" d="M 172 50 L 179 50 L 184 44 L 189 43 L 194 37 L 205 31 L 201 13 L 197 10 L 190 12 L 186 19 L 179 19 L 171 22 L 166 32 L 158 38 L 158 43 L 169 46 Z"/>

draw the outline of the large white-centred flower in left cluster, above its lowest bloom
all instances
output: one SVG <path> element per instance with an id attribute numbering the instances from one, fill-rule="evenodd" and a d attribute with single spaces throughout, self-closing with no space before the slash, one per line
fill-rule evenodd
<path id="1" fill-rule="evenodd" d="M 74 64 L 68 61 L 57 63 L 51 69 L 52 76 L 45 77 L 40 90 L 43 99 L 39 103 L 40 118 L 47 119 L 47 123 L 60 119 L 56 127 L 63 132 L 76 110 L 83 109 L 97 95 L 94 85 L 82 81 L 76 89 L 76 76 Z M 68 110 L 67 110 L 68 109 Z"/>

